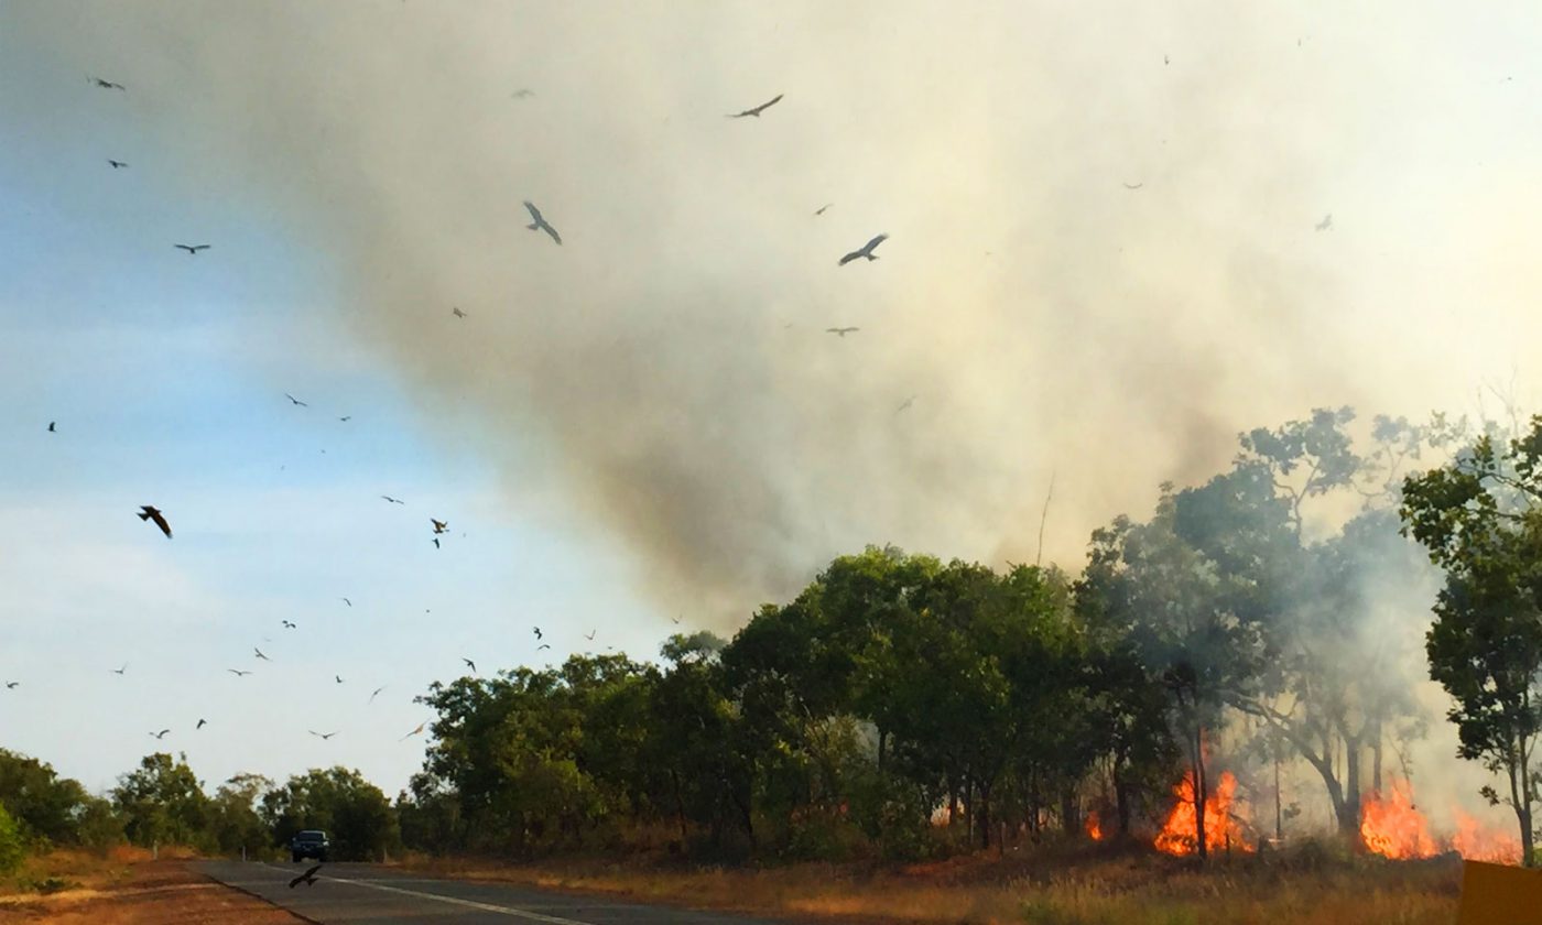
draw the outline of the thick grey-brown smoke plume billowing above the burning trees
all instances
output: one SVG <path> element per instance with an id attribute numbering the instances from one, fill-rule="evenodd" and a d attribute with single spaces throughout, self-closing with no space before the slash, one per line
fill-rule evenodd
<path id="1" fill-rule="evenodd" d="M 0 42 L 57 63 L 8 74 L 8 106 L 69 133 L 80 74 L 130 83 L 168 196 L 324 253 L 321 311 L 503 467 L 517 512 L 558 487 L 708 620 L 871 541 L 1032 558 L 1050 472 L 1047 558 L 1078 561 L 1244 427 L 1419 415 L 1537 333 L 1485 256 L 1534 237 L 1491 224 L 1503 168 L 1425 143 L 1439 111 L 1442 139 L 1510 145 L 1486 71 L 1460 83 L 1494 49 L 1402 51 L 1466 25 L 1226 3 L 5 15 Z M 879 231 L 882 259 L 836 267 Z M 1511 333 L 1453 358 L 1474 291 Z M 295 348 L 325 361 L 324 330 Z"/>

